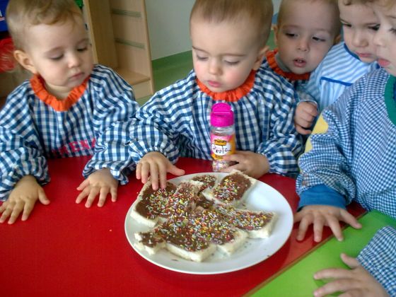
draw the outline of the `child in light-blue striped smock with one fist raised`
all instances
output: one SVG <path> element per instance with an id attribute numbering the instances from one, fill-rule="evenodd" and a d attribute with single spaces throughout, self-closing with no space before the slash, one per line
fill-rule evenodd
<path id="1" fill-rule="evenodd" d="M 378 68 L 372 42 L 378 21 L 363 1 L 338 0 L 344 41 L 332 47 L 310 76 L 305 90 L 315 101 L 301 102 L 294 119 L 301 134 L 310 134 L 318 112 L 334 103 L 361 76 Z"/>

